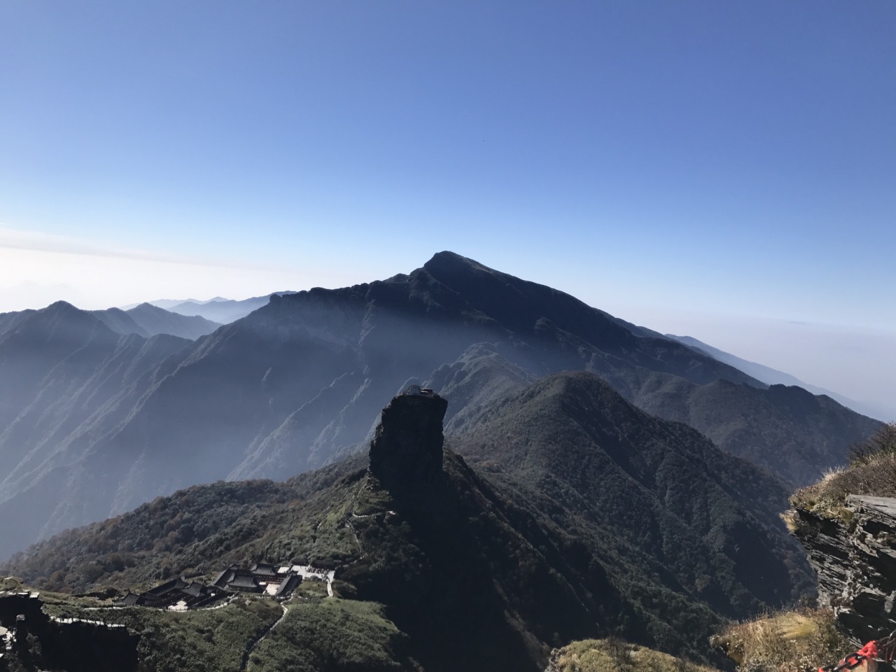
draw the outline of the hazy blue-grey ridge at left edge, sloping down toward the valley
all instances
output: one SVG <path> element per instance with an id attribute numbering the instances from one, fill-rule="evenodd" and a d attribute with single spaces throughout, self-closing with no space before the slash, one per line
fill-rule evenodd
<path id="1" fill-rule="evenodd" d="M 155 376 L 165 375 L 165 359 L 189 343 L 119 335 L 63 301 L 0 334 L 0 498 L 13 516 L 3 552 L 33 540 L 60 508 L 77 506 L 53 494 L 84 454 L 76 446 L 102 434 L 99 418 L 111 427 L 125 421 Z"/>

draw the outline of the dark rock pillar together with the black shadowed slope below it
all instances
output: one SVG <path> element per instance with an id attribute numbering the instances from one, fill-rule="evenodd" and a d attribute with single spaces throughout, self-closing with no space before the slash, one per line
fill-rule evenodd
<path id="1" fill-rule="evenodd" d="M 348 520 L 359 557 L 335 578 L 386 605 L 427 672 L 538 672 L 555 642 L 633 617 L 586 547 L 444 450 L 447 408 L 412 385 L 383 409 Z"/>

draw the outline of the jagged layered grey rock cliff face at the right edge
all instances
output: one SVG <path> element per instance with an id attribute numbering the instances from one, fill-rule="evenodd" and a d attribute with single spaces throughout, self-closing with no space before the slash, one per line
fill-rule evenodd
<path id="1" fill-rule="evenodd" d="M 896 629 L 896 499 L 849 495 L 835 517 L 797 508 L 792 529 L 818 573 L 818 601 L 857 643 Z"/>

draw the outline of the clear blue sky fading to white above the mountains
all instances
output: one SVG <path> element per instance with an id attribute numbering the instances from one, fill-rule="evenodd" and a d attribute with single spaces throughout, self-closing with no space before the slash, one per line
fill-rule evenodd
<path id="1" fill-rule="evenodd" d="M 831 386 L 781 325 L 896 342 L 894 120 L 892 0 L 6 0 L 0 310 L 451 249 Z"/>

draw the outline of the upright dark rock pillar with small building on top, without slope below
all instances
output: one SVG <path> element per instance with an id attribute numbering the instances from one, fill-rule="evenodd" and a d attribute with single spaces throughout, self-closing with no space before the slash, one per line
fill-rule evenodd
<path id="1" fill-rule="evenodd" d="M 448 401 L 410 387 L 383 409 L 370 444 L 370 472 L 384 487 L 405 492 L 442 472 L 442 420 Z"/>

